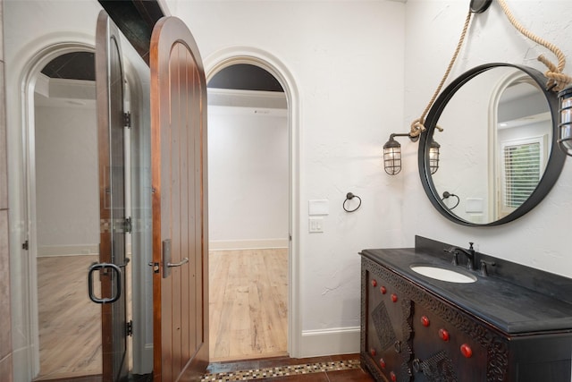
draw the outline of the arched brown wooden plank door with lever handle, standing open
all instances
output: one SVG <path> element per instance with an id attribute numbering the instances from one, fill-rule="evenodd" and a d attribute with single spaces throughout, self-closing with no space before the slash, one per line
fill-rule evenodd
<path id="1" fill-rule="evenodd" d="M 206 79 L 174 17 L 151 36 L 154 380 L 200 380 L 208 364 Z"/>

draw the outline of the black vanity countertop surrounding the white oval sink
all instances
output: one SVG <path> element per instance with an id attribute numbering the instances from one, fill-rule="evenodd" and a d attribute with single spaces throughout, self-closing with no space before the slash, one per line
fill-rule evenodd
<path id="1" fill-rule="evenodd" d="M 534 287 L 514 284 L 499 275 L 480 276 L 479 272 L 468 271 L 464 266 L 453 266 L 450 259 L 444 259 L 442 255 L 414 248 L 363 250 L 360 254 L 454 303 L 506 334 L 572 331 L 572 303 L 559 299 L 558 293 L 539 292 Z M 412 264 L 448 267 L 470 273 L 476 276 L 477 280 L 466 284 L 440 281 L 414 272 L 410 268 Z M 519 272 L 523 269 L 526 272 L 526 267 L 519 266 Z M 529 269 L 538 273 L 533 268 Z M 543 273 L 546 278 L 550 275 Z M 515 279 L 517 278 L 516 275 Z M 568 284 L 572 284 L 572 280 L 569 280 Z"/>

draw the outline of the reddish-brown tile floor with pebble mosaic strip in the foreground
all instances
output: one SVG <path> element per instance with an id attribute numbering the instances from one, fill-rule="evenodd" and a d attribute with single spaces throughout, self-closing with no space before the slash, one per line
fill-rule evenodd
<path id="1" fill-rule="evenodd" d="M 313 381 L 373 382 L 360 369 L 359 354 L 332 355 L 295 359 L 275 357 L 262 360 L 214 362 L 208 366 L 201 382 L 231 381 Z"/>

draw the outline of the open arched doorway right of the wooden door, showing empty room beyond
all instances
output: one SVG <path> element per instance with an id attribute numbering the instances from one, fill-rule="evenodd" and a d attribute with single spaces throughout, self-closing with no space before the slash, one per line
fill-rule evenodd
<path id="1" fill-rule="evenodd" d="M 256 65 L 208 82 L 211 361 L 288 353 L 287 107 Z"/>

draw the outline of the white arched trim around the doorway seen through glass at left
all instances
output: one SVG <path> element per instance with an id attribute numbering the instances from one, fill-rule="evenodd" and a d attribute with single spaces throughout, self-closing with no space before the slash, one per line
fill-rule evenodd
<path id="1" fill-rule="evenodd" d="M 68 41 L 65 41 L 65 40 Z M 21 291 L 25 337 L 28 339 L 28 351 L 21 354 L 24 359 L 14 360 L 14 365 L 31 365 L 28 368 L 28 378 L 35 378 L 40 371 L 39 359 L 39 323 L 38 323 L 38 216 L 36 203 L 36 134 L 35 134 L 35 101 L 34 93 L 38 84 L 38 74 L 51 60 L 59 55 L 72 52 L 95 53 L 95 47 L 87 42 L 69 41 L 70 38 L 39 48 L 34 55 L 26 61 L 21 75 L 21 98 L 18 106 L 21 110 L 21 199 L 22 220 L 25 222 L 23 235 L 29 242 L 28 253 L 20 253 L 26 260 L 21 264 L 22 277 L 28 280 L 26 290 Z M 65 42 L 62 42 L 65 41 Z M 12 253 L 12 256 L 18 256 Z M 22 283 L 23 284 L 23 283 Z M 11 292 L 13 294 L 13 292 Z M 15 369 L 15 368 L 14 368 Z M 14 378 L 17 376 L 14 375 Z"/>

